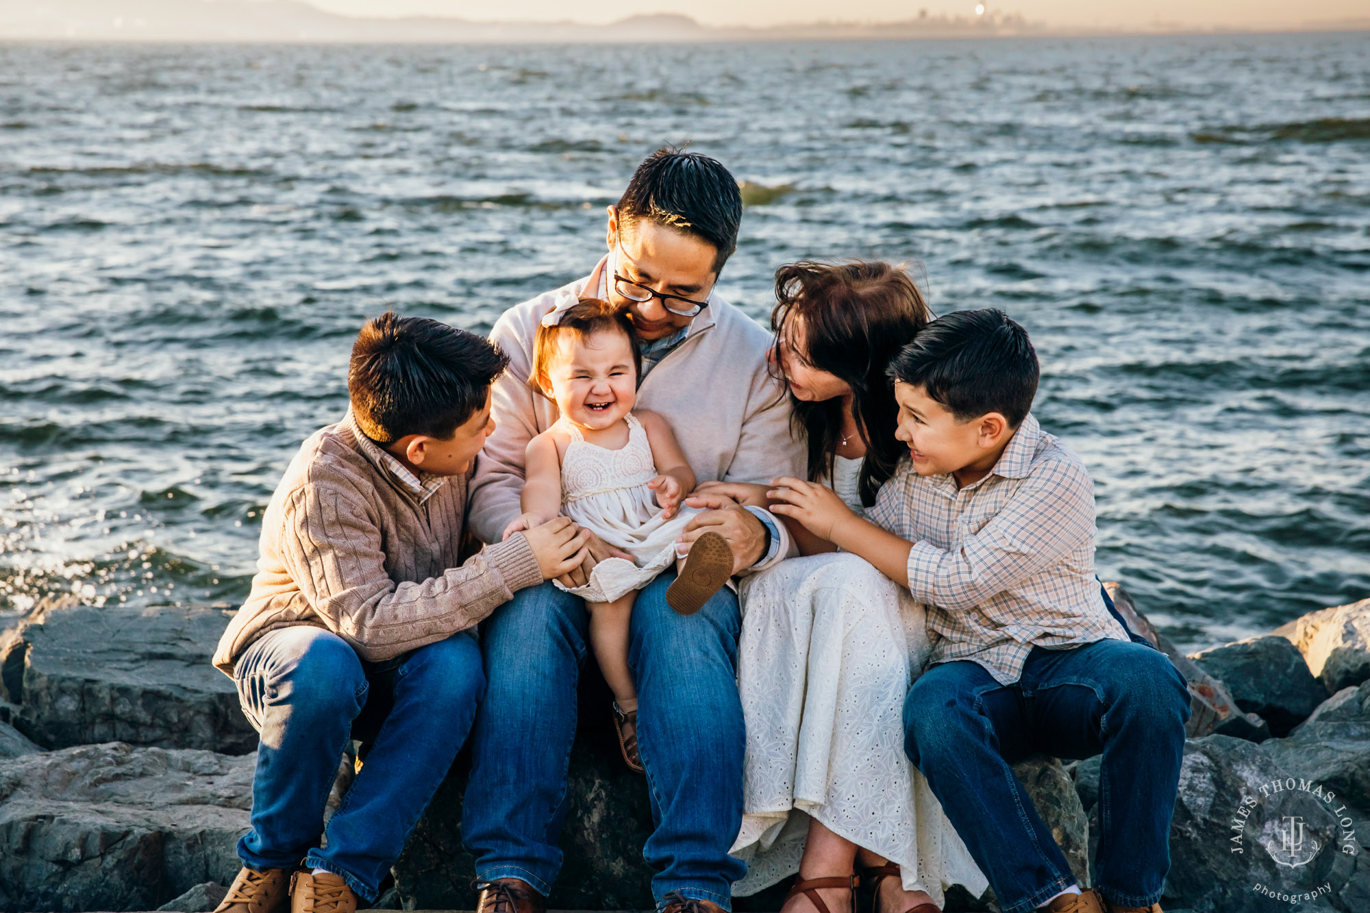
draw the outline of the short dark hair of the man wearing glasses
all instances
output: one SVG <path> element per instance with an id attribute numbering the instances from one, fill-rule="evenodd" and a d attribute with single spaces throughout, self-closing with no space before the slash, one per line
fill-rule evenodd
<path id="1" fill-rule="evenodd" d="M 662 147 L 637 166 L 618 199 L 618 221 L 632 230 L 637 219 L 678 229 L 714 245 L 714 271 L 737 249 L 743 195 L 717 159 Z"/>

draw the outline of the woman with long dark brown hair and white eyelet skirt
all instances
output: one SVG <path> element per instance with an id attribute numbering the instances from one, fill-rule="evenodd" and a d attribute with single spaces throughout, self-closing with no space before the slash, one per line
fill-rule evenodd
<path id="1" fill-rule="evenodd" d="M 801 262 L 775 274 L 771 363 L 808 478 L 862 513 L 904 452 L 885 367 L 932 315 L 889 263 Z M 701 491 L 764 506 L 762 485 Z M 782 913 L 936 913 L 947 887 L 985 879 L 903 748 L 903 705 L 929 653 L 922 606 L 866 561 L 797 524 L 803 558 L 741 587 L 738 688 L 747 720 L 744 818 L 733 854 L 752 894 L 799 873 Z"/>

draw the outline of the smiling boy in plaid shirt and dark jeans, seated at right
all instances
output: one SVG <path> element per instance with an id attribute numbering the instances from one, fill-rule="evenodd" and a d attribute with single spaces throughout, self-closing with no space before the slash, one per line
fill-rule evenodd
<path id="1" fill-rule="evenodd" d="M 1095 577 L 1093 484 L 1032 417 L 1037 354 L 1001 311 L 933 321 L 889 367 L 908 459 L 860 520 L 780 478 L 771 510 L 907 584 L 932 665 L 904 748 L 1004 913 L 1160 913 L 1189 694 Z M 1011 765 L 1103 754 L 1099 888 L 1081 891 Z"/>

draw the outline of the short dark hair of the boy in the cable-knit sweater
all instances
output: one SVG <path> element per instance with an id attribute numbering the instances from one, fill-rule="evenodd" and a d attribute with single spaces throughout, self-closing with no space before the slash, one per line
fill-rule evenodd
<path id="1" fill-rule="evenodd" d="M 475 333 L 386 311 L 352 344 L 347 392 L 362 433 L 378 444 L 407 435 L 447 440 L 485 407 L 508 356 Z"/>

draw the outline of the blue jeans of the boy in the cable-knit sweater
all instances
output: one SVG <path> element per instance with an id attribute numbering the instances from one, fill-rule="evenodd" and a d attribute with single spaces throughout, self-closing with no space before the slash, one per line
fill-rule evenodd
<path id="1" fill-rule="evenodd" d="M 303 857 L 304 868 L 341 875 L 375 901 L 471 728 L 485 691 L 475 637 L 456 633 L 369 664 L 322 628 L 278 628 L 242 653 L 233 677 L 262 736 L 242 865 L 293 869 Z M 366 762 L 321 850 L 323 806 L 352 738 L 367 746 Z"/>

